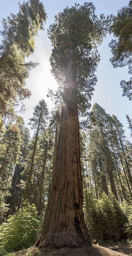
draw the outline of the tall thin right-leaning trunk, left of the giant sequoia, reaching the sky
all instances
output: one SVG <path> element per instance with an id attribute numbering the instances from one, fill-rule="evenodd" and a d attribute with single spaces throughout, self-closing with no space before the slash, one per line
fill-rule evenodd
<path id="1" fill-rule="evenodd" d="M 40 121 L 41 121 L 41 115 L 39 117 L 38 128 L 37 128 L 37 133 L 36 133 L 36 138 L 35 138 L 35 144 L 34 144 L 34 150 L 33 150 L 33 155 L 32 155 L 28 180 L 27 180 L 27 184 L 26 184 L 26 191 L 25 191 L 25 195 L 24 195 L 24 200 L 28 199 L 28 197 L 29 197 L 29 185 L 30 185 L 31 177 L 32 177 L 32 173 L 33 173 L 33 165 L 34 165 L 34 158 L 35 158 L 35 151 L 36 151 L 36 144 L 37 144 L 37 139 L 38 139 Z"/>

